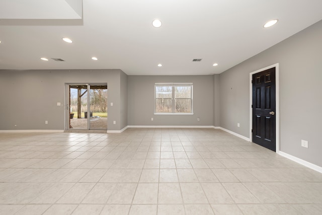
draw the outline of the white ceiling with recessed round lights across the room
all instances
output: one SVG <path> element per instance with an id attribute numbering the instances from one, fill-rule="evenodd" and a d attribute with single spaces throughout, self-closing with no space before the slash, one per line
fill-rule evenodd
<path id="1" fill-rule="evenodd" d="M 18 6 L 0 5 L 10 12 L 10 19 L 0 15 L 0 69 L 219 74 L 322 19 L 321 0 L 83 0 L 82 19 L 40 17 L 39 11 L 48 7 L 36 3 L 45 0 L 28 1 L 29 5 L 26 0 L 10 1 L 24 3 L 25 12 L 33 16 L 22 18 Z M 61 5 L 48 13 L 65 14 L 72 8 L 79 15 L 73 7 L 77 1 L 59 0 Z M 152 27 L 155 18 L 162 27 Z M 271 19 L 279 22 L 264 29 Z M 194 58 L 202 60 L 192 62 Z M 212 66 L 215 62 L 218 66 Z"/>

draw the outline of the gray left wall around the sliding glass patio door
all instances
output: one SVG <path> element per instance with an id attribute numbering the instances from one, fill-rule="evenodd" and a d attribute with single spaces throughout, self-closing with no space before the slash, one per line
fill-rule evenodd
<path id="1" fill-rule="evenodd" d="M 108 106 L 108 130 L 120 130 L 124 125 L 121 115 L 126 114 L 126 107 L 120 108 L 126 105 L 120 101 L 120 76 L 126 82 L 123 74 L 119 69 L 0 70 L 0 130 L 63 130 L 65 83 L 107 83 L 108 103 L 114 104 Z M 122 97 L 126 100 L 124 89 Z"/>

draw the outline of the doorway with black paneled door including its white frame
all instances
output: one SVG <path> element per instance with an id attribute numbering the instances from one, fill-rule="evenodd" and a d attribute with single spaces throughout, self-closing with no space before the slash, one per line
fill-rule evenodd
<path id="1" fill-rule="evenodd" d="M 250 73 L 250 140 L 276 153 L 279 134 L 279 64 Z"/>

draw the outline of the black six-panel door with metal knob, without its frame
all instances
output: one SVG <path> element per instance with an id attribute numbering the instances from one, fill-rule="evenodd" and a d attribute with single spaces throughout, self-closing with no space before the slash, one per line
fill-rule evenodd
<path id="1" fill-rule="evenodd" d="M 253 142 L 276 151 L 275 67 L 253 75 Z"/>

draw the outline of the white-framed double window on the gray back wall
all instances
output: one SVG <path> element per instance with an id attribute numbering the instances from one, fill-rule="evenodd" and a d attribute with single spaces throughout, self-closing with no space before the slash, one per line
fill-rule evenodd
<path id="1" fill-rule="evenodd" d="M 192 83 L 155 83 L 155 114 L 192 114 Z"/>

